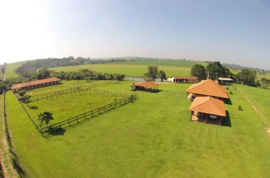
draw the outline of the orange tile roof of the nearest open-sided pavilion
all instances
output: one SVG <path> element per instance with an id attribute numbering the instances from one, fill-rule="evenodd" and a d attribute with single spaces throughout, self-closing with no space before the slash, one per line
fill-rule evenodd
<path id="1" fill-rule="evenodd" d="M 196 97 L 188 110 L 216 116 L 226 116 L 223 101 L 210 96 Z"/>

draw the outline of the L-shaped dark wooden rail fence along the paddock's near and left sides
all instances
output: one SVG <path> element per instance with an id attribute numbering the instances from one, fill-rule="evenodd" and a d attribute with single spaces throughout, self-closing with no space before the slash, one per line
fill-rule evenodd
<path id="1" fill-rule="evenodd" d="M 102 107 L 99 107 L 97 109 L 93 109 L 91 111 L 88 111 L 88 112 L 85 112 L 83 114 L 80 114 L 78 116 L 74 116 L 72 118 L 69 118 L 69 119 L 66 119 L 64 121 L 61 121 L 61 122 L 58 122 L 56 124 L 52 124 L 50 126 L 46 126 L 46 127 L 43 127 L 43 128 L 40 128 L 38 126 L 38 124 L 36 123 L 36 121 L 33 119 L 33 117 L 30 115 L 30 113 L 27 111 L 25 105 L 23 103 L 21 103 L 21 106 L 23 107 L 23 109 L 25 110 L 26 114 L 28 115 L 28 117 L 30 118 L 30 120 L 33 122 L 33 124 L 35 125 L 35 127 L 38 129 L 38 131 L 43 134 L 43 133 L 46 133 L 50 130 L 53 130 L 53 129 L 56 129 L 56 128 L 61 128 L 62 126 L 65 126 L 65 125 L 69 125 L 71 126 L 70 124 L 72 123 L 79 123 L 79 120 L 81 119 L 86 119 L 88 116 L 97 116 L 98 114 L 101 114 L 101 113 L 104 113 L 108 110 L 111 110 L 111 109 L 114 109 L 118 106 L 121 106 L 121 105 L 124 105 L 126 103 L 130 103 L 130 102 L 133 102 L 135 99 L 137 99 L 137 94 L 134 94 L 134 95 L 130 95 L 129 97 L 127 98 L 124 98 L 124 99 L 121 99 L 119 101 L 115 101 L 114 103 L 110 103 L 110 104 L 107 104 L 105 106 L 102 106 Z"/>

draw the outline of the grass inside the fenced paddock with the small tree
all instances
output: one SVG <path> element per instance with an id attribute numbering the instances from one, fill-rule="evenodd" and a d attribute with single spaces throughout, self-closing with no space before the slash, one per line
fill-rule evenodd
<path id="1" fill-rule="evenodd" d="M 63 97 L 55 97 L 53 100 L 45 99 L 44 102 L 34 102 L 27 104 L 27 110 L 31 116 L 37 120 L 38 113 L 44 109 L 49 109 L 53 112 L 54 119 L 50 124 L 64 121 L 71 117 L 83 114 L 84 112 L 97 109 L 104 105 L 114 103 L 117 100 L 124 98 L 115 94 L 104 94 L 97 91 L 83 91 L 76 94 L 69 94 Z M 38 121 L 38 120 L 37 120 Z M 45 123 L 37 122 L 39 126 L 46 126 Z"/>

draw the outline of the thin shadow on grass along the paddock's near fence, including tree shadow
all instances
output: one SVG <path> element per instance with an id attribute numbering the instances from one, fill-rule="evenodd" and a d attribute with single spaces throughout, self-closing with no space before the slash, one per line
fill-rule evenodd
<path id="1" fill-rule="evenodd" d="M 136 100 L 138 100 L 138 98 Z M 85 122 L 91 121 L 94 118 L 105 115 L 105 114 L 107 114 L 109 112 L 112 112 L 115 109 L 121 108 L 123 106 L 126 106 L 128 104 L 132 104 L 132 103 L 134 103 L 134 101 L 131 102 L 131 103 L 122 104 L 122 105 L 117 106 L 117 107 L 112 107 L 111 109 L 107 109 L 105 112 L 102 112 L 102 113 L 97 114 L 95 116 L 88 116 L 85 119 L 81 119 L 80 121 L 78 121 L 76 123 L 70 124 L 70 126 L 67 125 L 67 126 L 62 126 L 61 128 L 57 127 L 57 128 L 54 128 L 54 129 L 50 129 L 50 130 L 46 131 L 46 133 L 43 134 L 43 137 L 44 138 L 50 138 L 50 137 L 56 136 L 56 135 L 64 135 L 64 133 L 69 129 L 73 129 L 73 128 L 77 127 L 77 126 L 80 126 L 81 124 L 83 124 Z"/>

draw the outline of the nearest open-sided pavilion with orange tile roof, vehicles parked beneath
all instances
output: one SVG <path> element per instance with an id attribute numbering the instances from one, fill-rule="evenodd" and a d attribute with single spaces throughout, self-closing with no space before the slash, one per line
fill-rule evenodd
<path id="1" fill-rule="evenodd" d="M 223 101 L 210 96 L 196 97 L 188 110 L 191 121 L 221 125 L 222 118 L 226 117 Z"/>

